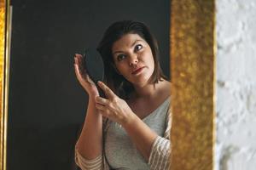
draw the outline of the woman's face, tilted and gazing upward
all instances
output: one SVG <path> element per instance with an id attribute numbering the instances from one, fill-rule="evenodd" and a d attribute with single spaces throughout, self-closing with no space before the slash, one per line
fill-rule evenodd
<path id="1" fill-rule="evenodd" d="M 114 65 L 129 82 L 143 86 L 154 72 L 154 58 L 148 42 L 137 34 L 126 34 L 113 43 Z"/>

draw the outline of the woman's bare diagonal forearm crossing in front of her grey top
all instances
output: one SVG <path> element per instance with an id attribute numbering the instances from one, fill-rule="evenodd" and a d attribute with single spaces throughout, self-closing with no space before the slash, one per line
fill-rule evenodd
<path id="1" fill-rule="evenodd" d="M 146 161 L 150 156 L 150 151 L 154 140 L 158 136 L 147 124 L 138 116 L 132 116 L 131 120 L 122 124 L 126 133 L 130 136 L 132 142 L 136 144 L 137 150 L 143 155 Z"/>

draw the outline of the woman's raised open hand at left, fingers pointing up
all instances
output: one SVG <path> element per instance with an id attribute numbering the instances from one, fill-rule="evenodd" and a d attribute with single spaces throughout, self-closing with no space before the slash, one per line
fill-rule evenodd
<path id="1" fill-rule="evenodd" d="M 90 97 L 96 97 L 99 95 L 96 84 L 90 79 L 89 75 L 86 73 L 86 68 L 83 65 L 83 56 L 81 54 L 74 55 L 74 70 L 79 83 L 84 88 L 84 90 L 89 94 Z"/>

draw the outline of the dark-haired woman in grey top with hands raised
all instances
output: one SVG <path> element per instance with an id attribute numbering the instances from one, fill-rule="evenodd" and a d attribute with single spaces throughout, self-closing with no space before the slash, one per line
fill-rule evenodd
<path id="1" fill-rule="evenodd" d="M 75 54 L 76 76 L 89 95 L 84 127 L 75 146 L 82 169 L 169 169 L 170 87 L 158 60 L 158 45 L 143 23 L 113 23 L 97 50 L 105 81 L 97 82 Z"/>

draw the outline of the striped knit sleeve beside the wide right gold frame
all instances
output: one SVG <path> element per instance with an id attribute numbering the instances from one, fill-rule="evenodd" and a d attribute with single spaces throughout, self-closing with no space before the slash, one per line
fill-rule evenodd
<path id="1" fill-rule="evenodd" d="M 168 110 L 168 113 L 171 109 Z M 150 170 L 169 170 L 171 165 L 171 140 L 170 131 L 172 127 L 172 114 L 166 116 L 166 130 L 164 137 L 158 136 L 152 144 L 148 165 Z"/>

